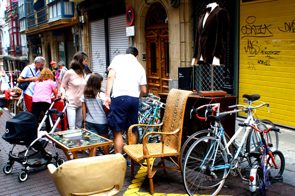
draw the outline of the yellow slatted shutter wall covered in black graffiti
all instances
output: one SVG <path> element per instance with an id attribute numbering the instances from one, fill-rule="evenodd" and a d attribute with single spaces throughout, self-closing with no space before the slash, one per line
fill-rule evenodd
<path id="1" fill-rule="evenodd" d="M 295 1 L 240 1 L 239 104 L 260 94 L 257 116 L 295 127 Z M 259 105 L 259 102 L 255 103 Z M 245 115 L 245 113 L 239 113 Z"/>

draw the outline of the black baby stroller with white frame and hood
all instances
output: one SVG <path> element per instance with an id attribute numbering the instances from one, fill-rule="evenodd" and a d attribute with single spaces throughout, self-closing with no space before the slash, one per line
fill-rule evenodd
<path id="1" fill-rule="evenodd" d="M 53 146 L 55 155 L 45 151 L 45 147 L 47 146 L 49 139 L 39 141 L 47 133 L 46 131 L 39 132 L 47 117 L 49 118 L 51 125 L 50 133 L 55 132 L 55 129 L 61 119 L 63 121 L 64 113 L 69 102 L 67 99 L 65 99 L 65 107 L 63 111 L 52 109 L 53 105 L 59 100 L 61 100 L 61 98 L 55 99 L 55 101 L 51 104 L 50 108 L 45 113 L 45 116 L 42 119 L 39 127 L 35 116 L 29 112 L 24 111 L 19 112 L 17 115 L 6 122 L 6 131 L 2 138 L 10 144 L 13 144 L 13 146 L 8 153 L 8 162 L 3 168 L 4 173 L 10 173 L 12 171 L 13 163 L 16 161 L 23 166 L 22 170 L 18 173 L 18 180 L 24 182 L 28 178 L 28 170 L 30 168 L 39 168 L 44 165 L 48 165 L 52 158 L 55 159 L 56 166 L 59 166 L 65 162 L 63 158 L 58 156 L 54 143 Z M 52 123 L 50 113 L 54 113 L 58 116 L 54 125 Z M 18 155 L 13 154 L 12 151 L 16 145 L 26 146 L 26 149 L 19 152 Z"/>

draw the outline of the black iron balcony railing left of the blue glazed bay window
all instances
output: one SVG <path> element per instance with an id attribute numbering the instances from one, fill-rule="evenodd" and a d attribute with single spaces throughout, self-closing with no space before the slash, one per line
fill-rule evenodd
<path id="1" fill-rule="evenodd" d="M 28 29 L 38 27 L 48 22 L 48 6 L 41 8 L 27 16 Z"/>

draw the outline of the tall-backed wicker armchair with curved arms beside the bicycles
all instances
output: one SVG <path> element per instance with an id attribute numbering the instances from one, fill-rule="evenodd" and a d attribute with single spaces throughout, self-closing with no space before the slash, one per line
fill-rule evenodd
<path id="1" fill-rule="evenodd" d="M 124 146 L 124 151 L 131 157 L 131 178 L 134 177 L 135 161 L 147 170 L 147 175 L 150 179 L 150 194 L 154 194 L 153 176 L 158 169 L 164 169 L 164 172 L 166 172 L 166 169 L 181 172 L 179 167 L 179 155 L 181 148 L 183 116 L 187 98 L 191 93 L 191 91 L 178 90 L 175 88 L 171 89 L 167 97 L 166 109 L 161 124 L 135 124 L 129 127 L 129 145 Z M 143 138 L 142 144 L 133 145 L 131 130 L 133 127 L 137 126 L 141 126 L 144 130 L 147 126 L 155 127 L 155 129 L 158 129 L 158 132 L 147 133 Z M 162 126 L 162 131 L 159 129 L 160 126 Z M 160 134 L 161 143 L 147 143 L 148 136 L 152 134 Z M 177 158 L 173 159 L 171 156 L 177 156 Z M 150 162 L 150 158 L 157 157 L 160 157 L 161 160 L 156 166 L 153 166 L 154 161 Z M 165 167 L 164 157 L 170 157 L 173 163 L 176 164 L 177 168 Z M 146 164 L 140 163 L 143 159 L 146 159 Z"/>

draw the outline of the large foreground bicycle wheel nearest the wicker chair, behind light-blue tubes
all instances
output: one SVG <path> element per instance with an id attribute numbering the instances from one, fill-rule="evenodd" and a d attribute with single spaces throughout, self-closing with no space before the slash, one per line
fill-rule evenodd
<path id="1" fill-rule="evenodd" d="M 190 196 L 216 195 L 222 188 L 229 169 L 219 169 L 218 166 L 228 166 L 228 159 L 223 144 L 217 145 L 216 138 L 205 136 L 194 142 L 187 151 L 182 180 Z"/>

